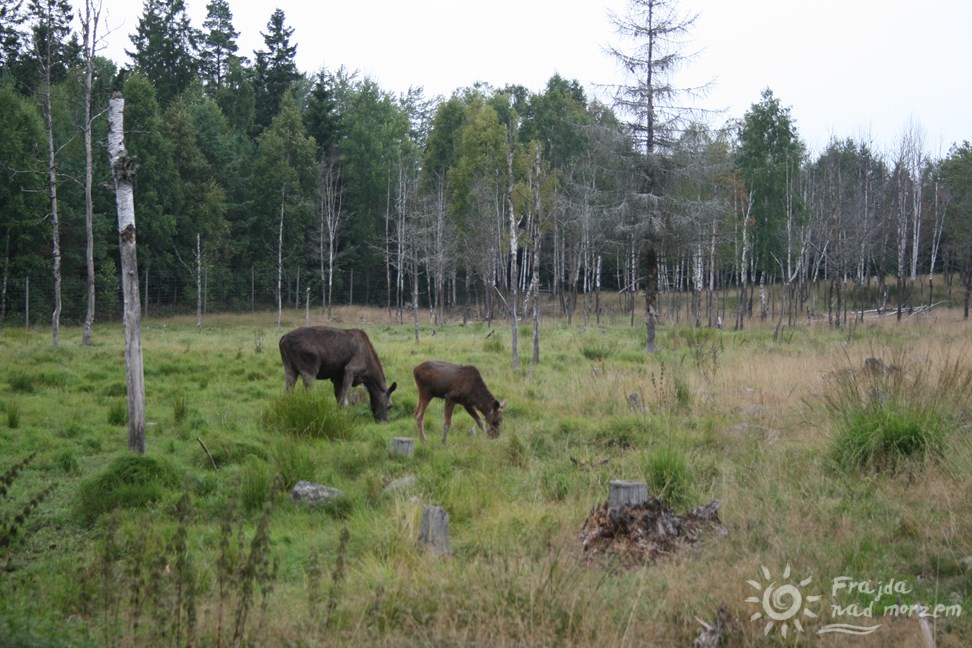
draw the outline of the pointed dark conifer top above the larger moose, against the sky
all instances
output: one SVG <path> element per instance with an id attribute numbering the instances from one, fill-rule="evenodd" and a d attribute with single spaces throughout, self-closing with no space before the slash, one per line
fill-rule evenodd
<path id="1" fill-rule="evenodd" d="M 277 114 L 284 93 L 300 78 L 294 57 L 297 45 L 290 44 L 294 30 L 285 24 L 286 16 L 274 10 L 267 31 L 260 32 L 267 49 L 256 52 L 256 124 L 266 128 Z"/>

